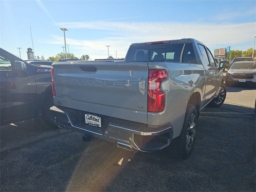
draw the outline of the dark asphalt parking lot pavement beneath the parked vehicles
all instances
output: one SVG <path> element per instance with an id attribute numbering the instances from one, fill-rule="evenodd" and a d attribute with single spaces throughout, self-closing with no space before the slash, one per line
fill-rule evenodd
<path id="1" fill-rule="evenodd" d="M 187 160 L 129 152 L 32 120 L 0 128 L 1 191 L 255 191 L 255 87 L 204 108 Z"/>

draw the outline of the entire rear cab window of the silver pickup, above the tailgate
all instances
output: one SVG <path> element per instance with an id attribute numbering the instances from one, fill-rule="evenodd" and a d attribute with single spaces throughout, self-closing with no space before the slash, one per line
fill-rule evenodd
<path id="1" fill-rule="evenodd" d="M 126 61 L 196 63 L 192 43 L 130 47 Z"/>

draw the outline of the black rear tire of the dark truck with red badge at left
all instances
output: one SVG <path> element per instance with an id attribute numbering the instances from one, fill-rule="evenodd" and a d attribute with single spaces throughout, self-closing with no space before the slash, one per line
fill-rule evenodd
<path id="1" fill-rule="evenodd" d="M 47 125 L 58 128 L 58 126 L 52 123 L 52 113 L 50 112 L 50 107 L 53 105 L 54 103 L 52 94 L 46 95 L 42 106 L 42 119 Z"/>

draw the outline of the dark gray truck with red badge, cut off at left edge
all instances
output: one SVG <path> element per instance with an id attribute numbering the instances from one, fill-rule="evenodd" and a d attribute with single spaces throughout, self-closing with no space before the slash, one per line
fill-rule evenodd
<path id="1" fill-rule="evenodd" d="M 0 48 L 0 124 L 39 118 L 53 125 L 52 66 L 34 65 Z"/>

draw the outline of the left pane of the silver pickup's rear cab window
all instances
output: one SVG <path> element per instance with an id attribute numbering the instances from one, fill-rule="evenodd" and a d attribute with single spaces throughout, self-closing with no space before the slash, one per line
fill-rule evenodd
<path id="1" fill-rule="evenodd" d="M 149 46 L 131 47 L 129 49 L 127 61 L 148 61 Z"/>

